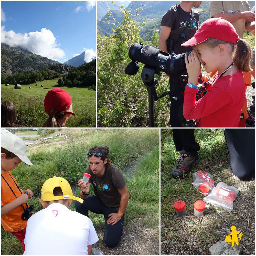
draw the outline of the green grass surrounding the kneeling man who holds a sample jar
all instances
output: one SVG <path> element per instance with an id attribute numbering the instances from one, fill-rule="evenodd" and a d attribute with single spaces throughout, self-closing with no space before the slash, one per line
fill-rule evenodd
<path id="1" fill-rule="evenodd" d="M 143 228 L 154 229 L 159 239 L 159 129 L 63 129 L 69 135 L 65 144 L 40 144 L 27 147 L 33 166 L 21 163 L 12 171 L 22 189 L 32 189 L 29 204 L 35 212 L 46 179 L 60 176 L 68 180 L 79 196 L 77 180 L 89 165 L 87 152 L 95 145 L 109 146 L 111 162 L 124 174 L 130 193 L 124 229 L 136 232 L 139 221 Z M 57 133 L 57 132 L 56 132 Z M 54 134 L 52 134 L 54 136 Z M 59 139 L 57 139 L 59 140 Z M 54 140 L 50 140 L 53 142 Z M 90 188 L 93 195 L 93 188 Z M 75 210 L 74 202 L 70 209 Z M 104 233 L 104 217 L 89 213 L 97 233 Z M 125 241 L 124 241 L 125 242 Z M 2 254 L 22 254 L 16 237 L 1 228 Z"/>

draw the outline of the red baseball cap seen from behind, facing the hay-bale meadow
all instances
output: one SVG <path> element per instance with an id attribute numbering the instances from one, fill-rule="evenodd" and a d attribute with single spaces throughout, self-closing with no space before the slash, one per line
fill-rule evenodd
<path id="1" fill-rule="evenodd" d="M 67 91 L 54 88 L 47 92 L 45 95 L 44 106 L 45 112 L 54 115 L 61 115 L 61 114 L 71 114 L 75 115 L 73 112 L 68 112 L 66 109 L 69 109 L 71 105 L 71 97 Z M 52 113 L 50 112 L 51 109 L 59 110 L 59 113 Z"/>

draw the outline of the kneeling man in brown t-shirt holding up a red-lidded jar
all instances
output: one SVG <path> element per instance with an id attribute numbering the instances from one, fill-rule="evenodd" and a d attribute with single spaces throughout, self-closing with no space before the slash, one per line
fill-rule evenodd
<path id="1" fill-rule="evenodd" d="M 115 247 L 121 241 L 129 192 L 121 171 L 109 159 L 109 148 L 95 146 L 88 153 L 90 166 L 85 172 L 90 174 L 89 182 L 78 181 L 83 204 L 76 202 L 76 211 L 88 217 L 88 210 L 103 214 L 105 218 L 104 243 Z M 93 184 L 95 196 L 89 196 Z"/>

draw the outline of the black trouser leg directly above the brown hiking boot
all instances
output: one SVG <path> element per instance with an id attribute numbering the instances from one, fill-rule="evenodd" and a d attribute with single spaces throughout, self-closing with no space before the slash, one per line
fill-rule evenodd
<path id="1" fill-rule="evenodd" d="M 196 155 L 200 150 L 195 140 L 195 129 L 173 129 L 173 141 L 176 151 L 187 155 Z"/>

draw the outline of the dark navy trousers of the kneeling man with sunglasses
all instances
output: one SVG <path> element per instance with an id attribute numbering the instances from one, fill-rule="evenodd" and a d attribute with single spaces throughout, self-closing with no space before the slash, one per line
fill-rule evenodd
<path id="1" fill-rule="evenodd" d="M 104 243 L 106 246 L 115 247 L 120 241 L 123 233 L 124 225 L 124 215 L 123 217 L 115 223 L 115 225 L 108 225 L 107 220 L 109 214 L 113 212 L 118 212 L 118 209 L 108 207 L 102 203 L 102 201 L 96 196 L 89 196 L 83 201 L 83 204 L 76 201 L 75 202 L 76 211 L 86 215 L 88 217 L 88 210 L 96 214 L 103 214 L 105 219 L 105 233 L 104 233 Z"/>

